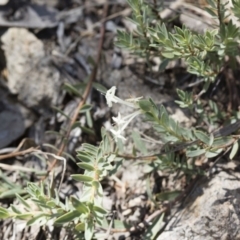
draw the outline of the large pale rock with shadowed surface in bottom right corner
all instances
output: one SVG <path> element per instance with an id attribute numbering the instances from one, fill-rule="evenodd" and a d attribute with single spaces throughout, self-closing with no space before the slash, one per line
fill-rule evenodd
<path id="1" fill-rule="evenodd" d="M 240 239 L 240 173 L 202 181 L 157 240 Z"/>

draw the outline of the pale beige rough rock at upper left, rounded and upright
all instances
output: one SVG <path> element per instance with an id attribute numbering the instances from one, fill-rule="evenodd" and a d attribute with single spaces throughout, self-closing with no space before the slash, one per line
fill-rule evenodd
<path id="1" fill-rule="evenodd" d="M 26 106 L 37 111 L 56 104 L 60 74 L 49 63 L 43 43 L 31 32 L 10 28 L 1 37 L 7 63 L 7 86 Z"/>

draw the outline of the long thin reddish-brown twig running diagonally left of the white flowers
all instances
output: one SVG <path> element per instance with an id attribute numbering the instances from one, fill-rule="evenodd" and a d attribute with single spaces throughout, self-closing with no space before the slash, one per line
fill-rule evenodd
<path id="1" fill-rule="evenodd" d="M 106 18 L 107 16 L 107 12 L 108 12 L 108 4 L 106 3 L 104 5 L 104 18 Z M 103 40 L 104 40 L 104 34 L 105 34 L 105 24 L 103 23 L 102 27 L 101 27 L 101 37 L 100 37 L 100 41 L 99 41 L 99 45 L 98 45 L 98 51 L 97 51 L 97 59 L 96 59 L 96 64 L 92 70 L 92 73 L 89 77 L 89 81 L 88 81 L 88 84 L 87 84 L 87 87 L 83 93 L 83 97 L 82 97 L 82 100 L 79 102 L 75 112 L 74 112 L 74 115 L 71 119 L 71 122 L 68 126 L 68 130 L 67 130 L 67 134 L 66 134 L 66 139 L 68 140 L 69 139 L 69 136 L 70 136 L 70 133 L 71 133 L 71 130 L 72 130 L 72 126 L 74 125 L 74 123 L 76 122 L 77 118 L 78 118 L 78 115 L 79 115 L 79 112 L 82 108 L 82 106 L 84 105 L 84 103 L 86 102 L 87 98 L 88 98 L 88 95 L 91 91 L 91 88 L 92 88 L 92 83 L 93 81 L 95 80 L 96 78 L 96 75 L 97 75 L 97 70 L 98 70 L 98 65 L 99 65 L 99 62 L 100 62 L 100 58 L 101 58 L 101 52 L 102 52 L 102 46 L 103 46 Z M 62 144 L 60 146 L 60 149 L 59 151 L 57 152 L 57 156 L 61 156 L 65 147 L 66 147 L 66 144 L 67 144 L 68 141 L 62 141 Z M 42 178 L 42 180 L 46 179 L 46 177 L 49 175 L 49 173 L 53 170 L 53 168 L 55 167 L 57 163 L 57 159 L 54 159 L 53 163 L 50 165 L 50 167 L 48 168 L 47 170 L 47 175 L 45 177 Z"/>

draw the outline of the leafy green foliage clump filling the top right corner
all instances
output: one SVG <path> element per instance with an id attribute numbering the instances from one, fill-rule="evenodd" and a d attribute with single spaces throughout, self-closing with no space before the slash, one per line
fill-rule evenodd
<path id="1" fill-rule="evenodd" d="M 219 25 L 199 34 L 184 26 L 169 30 L 161 19 L 156 18 L 148 4 L 135 0 L 128 2 L 133 10 L 131 21 L 136 25 L 136 31 L 119 31 L 116 42 L 119 47 L 134 54 L 159 56 L 163 62 L 165 59 L 182 59 L 188 72 L 208 82 L 214 81 L 220 72 L 225 56 L 235 57 L 240 31 L 232 20 L 224 23 L 229 17 L 227 4 L 218 6 L 216 0 L 209 0 L 210 7 L 206 11 L 219 20 Z M 233 6 L 232 11 L 239 18 L 239 0 L 233 1 Z"/>

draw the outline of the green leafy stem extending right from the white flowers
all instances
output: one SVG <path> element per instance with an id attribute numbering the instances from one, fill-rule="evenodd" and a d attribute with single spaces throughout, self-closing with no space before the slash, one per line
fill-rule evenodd
<path id="1" fill-rule="evenodd" d="M 151 99 L 140 100 L 139 107 L 144 112 L 146 120 L 152 123 L 156 131 L 160 133 L 162 141 L 166 143 L 161 150 L 165 156 L 160 155 L 159 166 L 161 169 L 166 168 L 176 171 L 179 168 L 184 170 L 184 167 L 180 167 L 179 163 L 186 164 L 187 161 L 176 159 L 172 154 L 176 150 L 185 149 L 188 158 L 195 158 L 203 154 L 207 158 L 212 158 L 219 155 L 224 148 L 233 144 L 230 136 L 224 134 L 217 136 L 217 134 L 208 134 L 195 128 L 180 126 L 168 115 L 164 106 L 157 107 Z M 237 151 L 237 146 L 234 147 L 233 152 Z"/>

